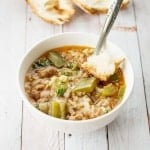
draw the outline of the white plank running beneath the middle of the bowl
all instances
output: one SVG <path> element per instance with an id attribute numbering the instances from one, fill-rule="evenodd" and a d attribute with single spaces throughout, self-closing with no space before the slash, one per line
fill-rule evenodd
<path id="1" fill-rule="evenodd" d="M 64 32 L 99 32 L 99 16 L 90 16 L 77 9 L 73 20 L 63 26 Z M 87 134 L 66 134 L 65 150 L 107 149 L 107 132 L 105 128 Z"/>

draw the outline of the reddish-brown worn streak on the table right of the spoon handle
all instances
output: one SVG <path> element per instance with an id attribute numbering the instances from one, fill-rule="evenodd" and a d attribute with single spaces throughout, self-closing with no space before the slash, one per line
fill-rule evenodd
<path id="1" fill-rule="evenodd" d="M 120 31 L 125 31 L 125 32 L 136 32 L 137 27 L 136 26 L 115 26 L 113 27 L 114 30 L 120 30 Z"/>

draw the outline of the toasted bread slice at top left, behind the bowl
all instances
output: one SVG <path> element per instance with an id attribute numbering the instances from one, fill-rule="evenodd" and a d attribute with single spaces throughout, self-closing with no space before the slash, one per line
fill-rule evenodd
<path id="1" fill-rule="evenodd" d="M 70 0 L 26 0 L 32 11 L 46 22 L 64 24 L 74 15 Z"/>

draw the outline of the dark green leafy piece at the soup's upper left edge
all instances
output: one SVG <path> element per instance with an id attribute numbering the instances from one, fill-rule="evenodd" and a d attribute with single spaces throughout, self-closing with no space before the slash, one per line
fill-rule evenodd
<path id="1" fill-rule="evenodd" d="M 49 59 L 40 58 L 39 60 L 37 60 L 33 63 L 32 68 L 38 69 L 38 68 L 41 68 L 41 67 L 49 66 L 50 64 L 51 63 L 50 63 Z"/>

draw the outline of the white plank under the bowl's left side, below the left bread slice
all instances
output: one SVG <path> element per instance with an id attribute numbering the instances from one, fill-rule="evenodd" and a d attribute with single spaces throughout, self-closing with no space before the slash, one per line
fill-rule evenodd
<path id="1" fill-rule="evenodd" d="M 59 31 L 62 31 L 61 26 L 43 22 L 28 8 L 27 48 Z M 64 134 L 51 131 L 46 125 L 35 120 L 25 106 L 23 109 L 22 150 L 64 150 Z"/>

